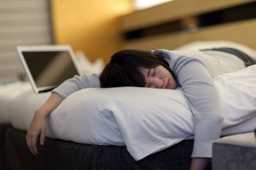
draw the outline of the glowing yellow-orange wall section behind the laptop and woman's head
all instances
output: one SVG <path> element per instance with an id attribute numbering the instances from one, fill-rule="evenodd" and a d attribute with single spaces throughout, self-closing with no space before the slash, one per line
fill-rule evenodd
<path id="1" fill-rule="evenodd" d="M 130 0 L 52 0 L 55 44 L 70 44 L 93 62 L 105 63 L 120 49 L 118 17 L 131 12 Z"/>

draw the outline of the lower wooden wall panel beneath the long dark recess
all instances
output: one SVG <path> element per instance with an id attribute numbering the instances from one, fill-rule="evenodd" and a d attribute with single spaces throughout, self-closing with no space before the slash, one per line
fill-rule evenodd
<path id="1" fill-rule="evenodd" d="M 198 40 L 229 40 L 256 49 L 256 19 L 237 21 L 197 31 L 181 31 L 124 42 L 124 49 L 169 49 Z"/>

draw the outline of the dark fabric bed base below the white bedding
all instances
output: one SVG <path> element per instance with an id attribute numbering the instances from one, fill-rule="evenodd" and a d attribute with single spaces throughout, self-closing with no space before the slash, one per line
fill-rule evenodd
<path id="1" fill-rule="evenodd" d="M 96 146 L 47 138 L 34 156 L 26 145 L 26 132 L 0 125 L 0 169 L 3 170 L 189 170 L 194 140 L 135 161 L 126 147 Z M 211 169 L 211 162 L 207 170 Z"/>

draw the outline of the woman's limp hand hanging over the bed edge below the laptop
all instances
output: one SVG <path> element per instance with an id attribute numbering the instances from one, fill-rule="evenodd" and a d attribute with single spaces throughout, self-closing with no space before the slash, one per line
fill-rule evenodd
<path id="1" fill-rule="evenodd" d="M 45 132 L 46 132 L 46 116 L 47 113 L 40 112 L 38 109 L 35 111 L 34 117 L 30 123 L 26 140 L 29 150 L 34 154 L 38 154 L 37 150 L 37 137 L 40 135 L 40 144 L 44 145 Z"/>

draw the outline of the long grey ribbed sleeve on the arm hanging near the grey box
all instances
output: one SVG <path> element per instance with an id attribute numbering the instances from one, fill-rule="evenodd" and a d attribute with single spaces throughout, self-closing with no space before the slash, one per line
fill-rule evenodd
<path id="1" fill-rule="evenodd" d="M 191 157 L 212 157 L 212 142 L 220 137 L 223 120 L 218 91 L 204 63 L 198 58 L 188 58 L 176 70 L 177 83 L 182 87 L 195 117 Z"/>

